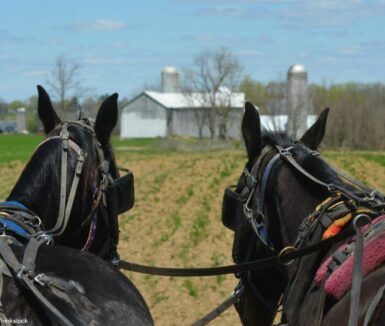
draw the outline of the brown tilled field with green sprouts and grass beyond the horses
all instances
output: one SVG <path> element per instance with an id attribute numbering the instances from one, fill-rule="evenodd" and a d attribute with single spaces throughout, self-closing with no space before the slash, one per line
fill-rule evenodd
<path id="1" fill-rule="evenodd" d="M 9 194 L 42 136 L 0 135 L 0 200 Z M 135 206 L 119 217 L 124 259 L 158 266 L 231 264 L 233 233 L 221 223 L 226 185 L 246 155 L 239 143 L 113 139 L 118 164 L 135 175 Z M 215 150 L 213 150 L 215 149 Z M 385 189 L 385 153 L 324 151 L 322 156 L 369 186 Z M 188 325 L 233 290 L 233 275 L 200 278 L 127 273 L 145 297 L 156 325 Z M 240 325 L 229 309 L 211 325 Z"/>

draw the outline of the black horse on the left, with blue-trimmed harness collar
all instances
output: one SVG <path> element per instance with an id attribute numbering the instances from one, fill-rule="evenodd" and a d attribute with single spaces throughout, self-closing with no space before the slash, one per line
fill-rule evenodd
<path id="1" fill-rule="evenodd" d="M 121 198 L 108 198 L 118 177 L 109 145 L 117 94 L 103 102 L 93 127 L 86 119 L 62 123 L 47 93 L 38 90 L 39 116 L 48 136 L 0 204 L 1 320 L 151 325 L 135 286 L 112 264 L 87 252 L 105 260 L 117 257 Z M 52 241 L 55 245 L 45 244 Z"/>

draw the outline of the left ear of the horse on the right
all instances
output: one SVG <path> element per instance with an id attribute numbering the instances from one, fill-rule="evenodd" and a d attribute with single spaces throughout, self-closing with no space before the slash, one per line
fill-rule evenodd
<path id="1" fill-rule="evenodd" d="M 249 160 L 255 159 L 261 151 L 261 120 L 257 108 L 250 102 L 245 103 L 242 119 L 242 134 Z"/>

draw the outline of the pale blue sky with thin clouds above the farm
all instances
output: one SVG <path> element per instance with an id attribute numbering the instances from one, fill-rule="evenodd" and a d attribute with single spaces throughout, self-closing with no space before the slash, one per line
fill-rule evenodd
<path id="1" fill-rule="evenodd" d="M 262 82 L 293 63 L 311 83 L 385 82 L 385 0 L 2 1 L 0 98 L 35 95 L 60 55 L 90 95 L 131 97 L 220 47 Z"/>

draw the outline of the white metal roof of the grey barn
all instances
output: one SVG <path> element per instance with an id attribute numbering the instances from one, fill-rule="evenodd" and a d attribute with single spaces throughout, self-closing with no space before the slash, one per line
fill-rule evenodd
<path id="1" fill-rule="evenodd" d="M 144 94 L 168 109 L 186 109 L 210 107 L 209 94 L 205 93 L 160 93 L 145 91 Z M 217 105 L 229 105 L 232 108 L 242 109 L 245 104 L 244 93 L 230 93 L 228 90 L 216 95 Z"/>

